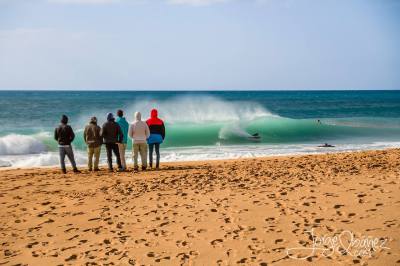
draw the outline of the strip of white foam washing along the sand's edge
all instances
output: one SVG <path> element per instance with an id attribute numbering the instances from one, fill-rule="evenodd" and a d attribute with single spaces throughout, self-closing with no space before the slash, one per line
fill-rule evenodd
<path id="1" fill-rule="evenodd" d="M 223 160 L 240 158 L 257 158 L 268 156 L 320 154 L 336 152 L 353 152 L 364 150 L 382 150 L 400 148 L 400 142 L 373 142 L 364 144 L 343 143 L 333 148 L 321 148 L 318 144 L 277 144 L 277 145 L 232 145 L 232 146 L 203 146 L 184 148 L 164 148 L 161 150 L 162 162 Z M 85 151 L 74 150 L 75 160 L 79 166 L 86 166 L 87 155 Z M 131 153 L 127 151 L 127 155 Z M 133 165 L 132 158 L 127 156 L 129 166 Z M 69 161 L 66 159 L 69 166 Z M 100 164 L 106 165 L 106 152 L 102 149 Z M 8 155 L 2 156 L 0 167 L 47 167 L 58 166 L 57 152 L 47 152 L 37 155 Z"/>

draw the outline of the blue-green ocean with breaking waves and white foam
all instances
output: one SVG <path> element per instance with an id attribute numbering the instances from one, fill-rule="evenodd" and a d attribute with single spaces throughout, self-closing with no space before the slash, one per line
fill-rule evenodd
<path id="1" fill-rule="evenodd" d="M 133 121 L 152 108 L 166 125 L 164 162 L 400 147 L 400 91 L 0 91 L 0 166 L 58 165 L 53 132 L 62 114 L 84 165 L 90 117 L 101 125 L 122 109 Z"/>

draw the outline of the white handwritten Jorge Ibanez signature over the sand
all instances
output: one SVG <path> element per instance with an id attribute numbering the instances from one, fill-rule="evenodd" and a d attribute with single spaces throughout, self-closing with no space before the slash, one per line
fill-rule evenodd
<path id="1" fill-rule="evenodd" d="M 316 236 L 314 228 L 305 231 L 310 234 L 312 240 L 311 247 L 288 248 L 286 254 L 297 260 L 305 260 L 316 254 L 329 257 L 336 254 L 357 256 L 369 256 L 381 249 L 390 249 L 386 247 L 387 238 L 374 238 L 371 236 L 355 237 L 351 231 L 343 231 L 334 236 Z"/>

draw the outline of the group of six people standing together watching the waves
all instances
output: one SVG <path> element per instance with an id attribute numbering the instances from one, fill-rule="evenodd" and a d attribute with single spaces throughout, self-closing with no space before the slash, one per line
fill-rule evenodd
<path id="1" fill-rule="evenodd" d="M 160 144 L 165 138 L 164 122 L 158 118 L 156 109 L 151 110 L 150 118 L 142 121 L 140 112 L 135 113 L 134 122 L 129 125 L 122 110 L 117 111 L 117 119 L 112 113 L 107 114 L 107 122 L 98 126 L 97 118 L 92 117 L 85 127 L 83 139 L 87 145 L 89 171 L 99 171 L 101 146 L 104 144 L 107 151 L 108 170 L 113 171 L 113 154 L 117 160 L 118 171 L 126 171 L 125 159 L 128 136 L 132 139 L 134 170 L 139 170 L 138 157 L 142 161 L 142 170 L 147 169 L 147 154 L 149 165 L 153 167 L 153 152 L 156 152 L 156 168 L 160 166 Z M 61 124 L 54 131 L 54 138 L 58 142 L 60 164 L 63 173 L 66 173 L 65 157 L 71 162 L 73 171 L 79 173 L 74 158 L 71 143 L 75 139 L 74 131 L 68 125 L 68 117 L 63 115 Z"/>

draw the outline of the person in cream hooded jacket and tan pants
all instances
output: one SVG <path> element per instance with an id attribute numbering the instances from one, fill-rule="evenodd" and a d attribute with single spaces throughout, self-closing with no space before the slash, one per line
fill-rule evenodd
<path id="1" fill-rule="evenodd" d="M 129 127 L 129 137 L 132 138 L 133 143 L 133 164 L 134 170 L 139 169 L 138 166 L 138 155 L 140 153 L 140 159 L 142 161 L 142 170 L 147 168 L 147 139 L 150 136 L 150 129 L 146 122 L 142 121 L 142 115 L 140 112 L 135 113 L 135 122 Z"/>

